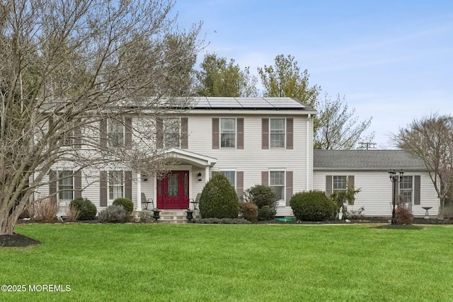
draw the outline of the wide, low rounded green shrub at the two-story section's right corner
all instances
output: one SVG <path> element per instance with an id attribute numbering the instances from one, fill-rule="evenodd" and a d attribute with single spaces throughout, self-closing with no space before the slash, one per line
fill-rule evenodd
<path id="1" fill-rule="evenodd" d="M 321 191 L 294 194 L 290 204 L 294 216 L 301 221 L 323 221 L 336 216 L 336 203 Z"/>

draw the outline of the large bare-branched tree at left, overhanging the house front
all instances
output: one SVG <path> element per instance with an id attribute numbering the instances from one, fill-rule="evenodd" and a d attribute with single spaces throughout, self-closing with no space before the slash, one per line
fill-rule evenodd
<path id="1" fill-rule="evenodd" d="M 152 129 L 159 117 L 190 107 L 187 73 L 202 47 L 200 25 L 178 30 L 172 7 L 171 0 L 1 1 L 0 235 L 13 232 L 57 162 L 161 168 L 165 153 Z M 134 130 L 124 144 L 108 135 L 115 124 Z"/>

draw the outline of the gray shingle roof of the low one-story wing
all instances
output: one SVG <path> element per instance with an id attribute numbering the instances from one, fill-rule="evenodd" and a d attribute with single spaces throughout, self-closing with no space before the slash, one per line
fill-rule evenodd
<path id="1" fill-rule="evenodd" d="M 314 170 L 426 170 L 403 150 L 314 150 Z"/>

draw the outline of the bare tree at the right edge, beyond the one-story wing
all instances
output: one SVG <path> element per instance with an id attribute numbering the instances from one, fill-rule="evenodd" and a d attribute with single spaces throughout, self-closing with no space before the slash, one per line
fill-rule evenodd
<path id="1" fill-rule="evenodd" d="M 413 120 L 406 128 L 399 129 L 392 141 L 425 163 L 440 199 L 439 216 L 442 216 L 445 201 L 452 197 L 453 117 L 434 113 Z"/>

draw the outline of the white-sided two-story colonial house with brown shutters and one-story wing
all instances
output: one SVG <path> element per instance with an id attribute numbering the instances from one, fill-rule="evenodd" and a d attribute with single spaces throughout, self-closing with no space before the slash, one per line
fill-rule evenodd
<path id="1" fill-rule="evenodd" d="M 212 175 L 223 173 L 240 197 L 254 185 L 273 187 L 280 199 L 277 216 L 292 216 L 289 201 L 295 192 L 343 190 L 348 181 L 361 189 L 355 207 L 365 207 L 369 216 L 389 216 L 387 170 L 393 168 L 406 171 L 401 194 L 411 200 L 414 213 L 424 214 L 421 207 L 425 206 L 437 213 L 438 199 L 428 173 L 403 151 L 314 153 L 316 113 L 293 98 L 197 98 L 193 108 L 156 120 L 157 147 L 178 158 L 178 163 L 166 168 L 171 172 L 164 177 L 120 167 L 73 173 L 55 165 L 49 177 L 58 173 L 61 179 L 42 187 L 40 193 L 55 194 L 62 211 L 74 197 L 90 199 L 98 211 L 117 197 L 127 197 L 134 202 L 135 211 L 143 211 L 147 205 L 142 204 L 143 194 L 159 209 L 188 209 L 193 207 L 190 200 L 196 199 Z M 135 144 L 137 135 L 128 130 L 134 127 L 127 127 L 135 122 L 134 117 L 117 127 L 101 122 L 100 139 L 107 135 L 122 140 L 125 146 Z M 168 135 L 175 133 L 178 139 Z M 81 141 L 83 144 L 84 137 Z M 65 173 L 74 176 L 62 178 Z"/>

